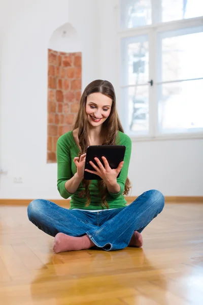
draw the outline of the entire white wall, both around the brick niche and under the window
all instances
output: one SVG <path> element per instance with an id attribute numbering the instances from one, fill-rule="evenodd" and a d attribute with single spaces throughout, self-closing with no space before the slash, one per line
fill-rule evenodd
<path id="1" fill-rule="evenodd" d="M 46 163 L 49 40 L 70 22 L 81 41 L 83 88 L 102 78 L 118 92 L 115 13 L 109 0 L 1 2 L 0 167 L 8 174 L 0 175 L 0 198 L 60 198 L 56 164 Z M 131 195 L 155 188 L 203 196 L 202 147 L 203 140 L 133 142 Z"/>

